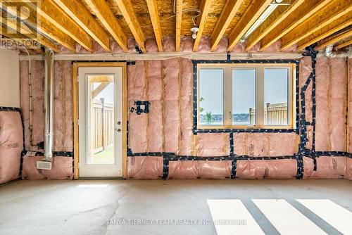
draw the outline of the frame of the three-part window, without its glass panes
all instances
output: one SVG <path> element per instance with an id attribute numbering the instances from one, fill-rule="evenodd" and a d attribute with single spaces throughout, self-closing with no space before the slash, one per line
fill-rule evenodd
<path id="1" fill-rule="evenodd" d="M 288 69 L 288 125 L 264 125 L 264 69 Z M 199 70 L 222 69 L 223 72 L 223 125 L 199 125 Z M 256 124 L 232 125 L 232 70 L 256 70 Z M 296 64 L 294 63 L 204 63 L 197 66 L 197 129 L 294 129 L 296 128 Z"/>

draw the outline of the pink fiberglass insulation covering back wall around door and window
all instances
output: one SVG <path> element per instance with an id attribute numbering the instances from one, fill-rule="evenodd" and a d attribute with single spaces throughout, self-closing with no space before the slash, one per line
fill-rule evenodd
<path id="1" fill-rule="evenodd" d="M 281 42 L 267 50 L 278 51 Z M 202 38 L 200 52 L 210 51 L 210 39 Z M 134 43 L 129 41 L 129 48 Z M 173 39 L 163 40 L 164 51 L 175 51 Z M 182 51 L 192 51 L 190 38 L 181 40 Z M 234 46 L 234 52 L 243 52 L 244 44 Z M 254 46 L 256 51 L 259 46 Z M 115 52 L 120 52 L 113 45 Z M 225 52 L 227 39 L 220 41 L 218 52 Z M 82 49 L 79 49 L 82 50 Z M 96 48 L 96 52 L 99 52 Z M 294 47 L 290 49 L 295 50 Z M 153 39 L 146 41 L 147 53 L 157 52 Z M 84 52 L 84 50 L 80 51 Z M 346 115 L 352 120 L 351 82 L 347 75 L 352 74 L 351 60 L 346 58 L 320 57 L 316 61 L 315 96 L 312 96 L 313 82 L 306 89 L 306 121 L 313 122 L 313 99 L 316 101 L 315 130 L 307 126 L 307 148 L 319 153 L 314 160 L 308 153 L 303 156 L 303 178 L 347 178 L 352 179 L 352 159 L 344 156 L 330 156 L 332 151 L 351 152 L 351 123 L 346 125 Z M 21 108 L 25 125 L 25 149 L 42 151 L 31 146 L 29 132 L 27 61 L 20 62 Z M 54 102 L 54 151 L 73 151 L 72 120 L 72 68 L 70 61 L 55 62 L 55 102 Z M 348 69 L 348 72 L 346 72 Z M 300 90 L 312 72 L 311 58 L 301 59 L 298 77 Z M 128 65 L 128 106 L 134 101 L 149 101 L 149 113 L 128 113 L 128 148 L 142 156 L 128 156 L 127 177 L 130 179 L 161 179 L 164 172 L 161 153 L 181 156 L 196 156 L 204 160 L 170 161 L 168 179 L 230 178 L 233 173 L 232 160 L 206 160 L 206 157 L 222 157 L 231 154 L 230 133 L 192 132 L 193 125 L 193 65 L 186 58 L 173 58 L 164 61 L 136 61 Z M 348 89 L 346 89 L 348 85 Z M 44 62 L 32 61 L 33 89 L 33 144 L 44 140 Z M 300 103 L 301 106 L 301 103 Z M 348 106 L 348 113 L 347 113 Z M 300 107 L 301 108 L 301 107 Z M 347 128 L 348 127 L 348 128 Z M 315 136 L 315 144 L 313 144 Z M 296 159 L 258 160 L 262 157 L 294 156 L 298 153 L 301 136 L 292 133 L 234 133 L 233 153 L 246 155 L 251 160 L 237 160 L 236 178 L 239 179 L 295 179 Z M 347 144 L 346 144 L 347 143 Z M 159 153 L 159 154 L 156 154 Z M 324 155 L 326 153 L 326 155 Z M 339 154 L 338 154 L 339 155 Z M 71 179 L 72 158 L 56 156 L 51 171 L 39 172 L 35 163 L 40 156 L 25 156 L 23 160 L 24 179 Z M 258 158 L 256 160 L 256 158 Z"/>

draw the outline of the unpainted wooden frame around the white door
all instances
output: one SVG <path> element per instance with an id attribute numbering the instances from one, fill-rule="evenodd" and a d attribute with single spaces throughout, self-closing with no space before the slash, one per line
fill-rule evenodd
<path id="1" fill-rule="evenodd" d="M 127 65 L 125 62 L 73 63 L 73 125 L 74 125 L 74 170 L 75 179 L 79 178 L 79 87 L 78 70 L 82 67 L 120 67 L 122 68 L 122 174 L 116 178 L 127 178 Z"/>

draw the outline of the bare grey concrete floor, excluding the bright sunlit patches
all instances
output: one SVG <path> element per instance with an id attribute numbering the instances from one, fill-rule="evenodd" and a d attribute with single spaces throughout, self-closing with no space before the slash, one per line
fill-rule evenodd
<path id="1" fill-rule="evenodd" d="M 212 221 L 208 199 L 240 199 L 265 234 L 280 230 L 252 199 L 284 199 L 322 231 L 341 234 L 296 199 L 328 199 L 349 216 L 352 181 L 19 180 L 0 187 L 0 234 L 216 234 L 214 224 L 180 225 L 180 221 Z M 140 225 L 156 220 L 163 225 Z"/>

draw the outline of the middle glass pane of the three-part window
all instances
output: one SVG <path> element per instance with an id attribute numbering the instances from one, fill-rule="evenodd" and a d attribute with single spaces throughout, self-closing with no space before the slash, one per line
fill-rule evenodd
<path id="1" fill-rule="evenodd" d="M 232 125 L 256 124 L 256 70 L 232 70 Z"/>

